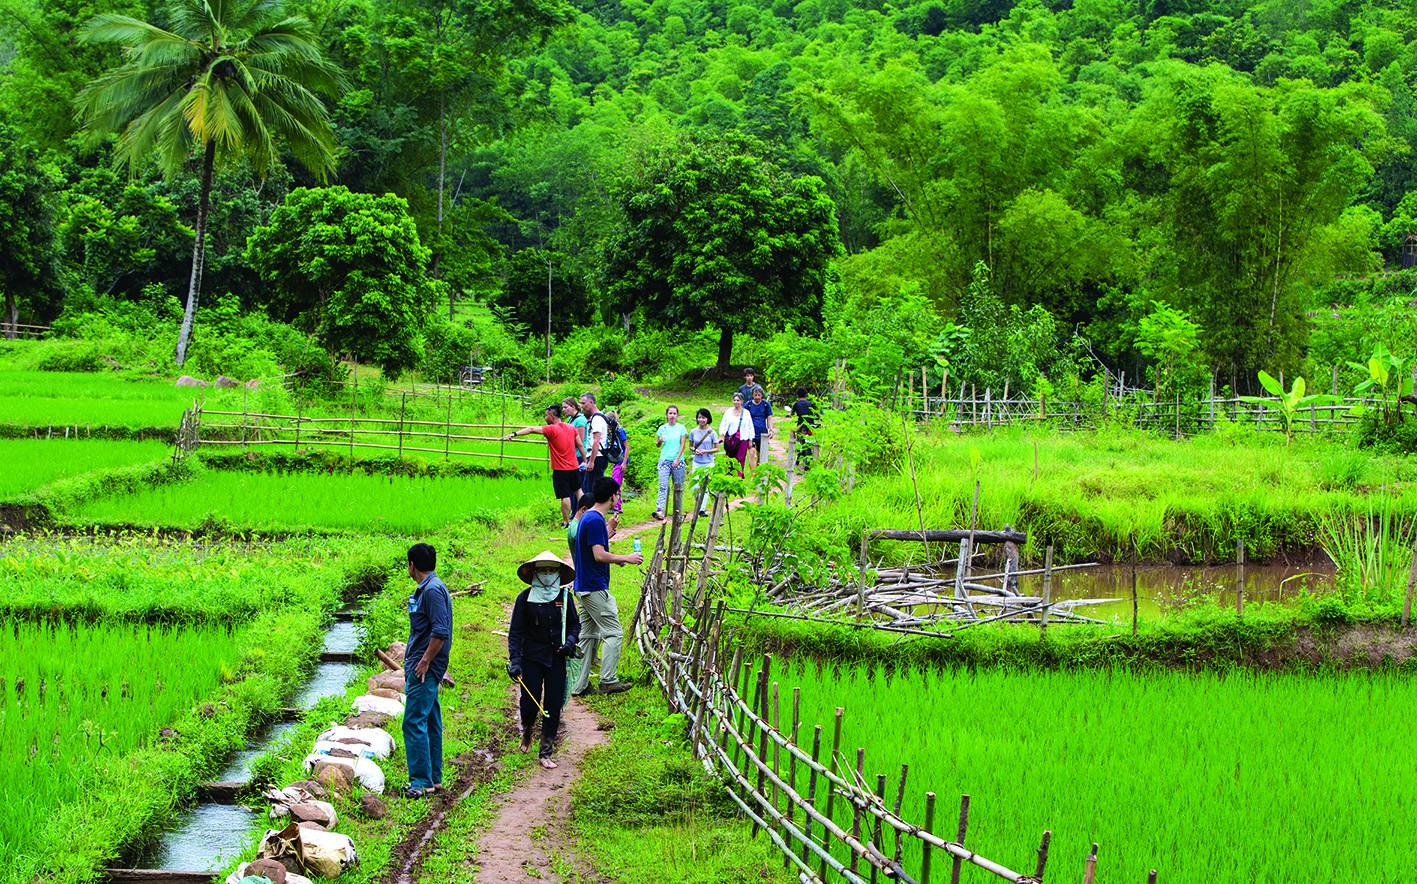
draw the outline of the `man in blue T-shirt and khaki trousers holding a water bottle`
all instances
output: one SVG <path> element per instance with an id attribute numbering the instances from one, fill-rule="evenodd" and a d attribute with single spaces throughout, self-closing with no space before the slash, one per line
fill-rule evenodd
<path id="1" fill-rule="evenodd" d="M 571 688 L 572 696 L 591 690 L 591 660 L 595 645 L 601 646 L 601 691 L 618 694 L 629 686 L 615 677 L 619 667 L 621 642 L 625 630 L 619 623 L 615 596 L 611 595 L 611 565 L 638 565 L 645 561 L 639 552 L 615 555 L 611 552 L 611 530 L 606 521 L 619 483 L 601 476 L 591 487 L 595 506 L 581 516 L 575 531 L 575 602 L 581 609 L 581 674 Z"/>

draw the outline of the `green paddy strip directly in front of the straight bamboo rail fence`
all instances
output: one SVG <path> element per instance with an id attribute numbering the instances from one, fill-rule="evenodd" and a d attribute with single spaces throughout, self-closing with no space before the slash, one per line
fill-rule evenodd
<path id="1" fill-rule="evenodd" d="M 537 497 L 546 477 L 407 477 L 201 470 L 190 482 L 101 497 L 69 517 L 154 527 L 232 526 L 259 531 L 417 533 L 496 514 Z"/>

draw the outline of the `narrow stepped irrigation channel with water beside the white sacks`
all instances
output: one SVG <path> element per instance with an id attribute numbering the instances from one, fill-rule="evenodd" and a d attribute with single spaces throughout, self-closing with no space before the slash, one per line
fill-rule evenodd
<path id="1" fill-rule="evenodd" d="M 262 755 L 283 748 L 296 720 L 305 711 L 326 697 L 344 693 L 357 672 L 354 652 L 363 638 L 359 615 L 353 608 L 336 615 L 336 622 L 324 632 L 320 662 L 292 706 L 285 710 L 283 720 L 266 725 L 252 737 L 244 749 L 232 755 L 215 781 L 203 783 L 197 805 L 181 812 L 170 829 L 140 850 L 125 856 L 123 868 L 108 871 L 109 881 L 210 881 L 249 850 L 251 836 L 265 822 L 265 815 L 238 802 L 239 795 L 252 785 L 252 766 Z"/>

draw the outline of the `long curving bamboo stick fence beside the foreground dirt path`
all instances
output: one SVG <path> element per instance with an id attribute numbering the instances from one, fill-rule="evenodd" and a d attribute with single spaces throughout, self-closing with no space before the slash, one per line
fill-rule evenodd
<path id="1" fill-rule="evenodd" d="M 952 884 L 965 868 L 1005 881 L 1043 881 L 1051 833 L 1041 834 L 1027 871 L 1017 871 L 965 844 L 968 795 L 951 836 L 937 832 L 934 792 L 924 795 L 924 820 L 904 819 L 901 805 L 914 788 L 910 765 L 876 761 L 874 769 L 890 774 L 870 776 L 866 751 L 842 745 L 845 708 L 836 710 L 829 734 L 820 725 L 811 737 L 803 732 L 799 688 L 788 694 L 774 679 L 771 654 L 748 657 L 724 623 L 731 612 L 714 598 L 726 500 L 716 496 L 707 537 L 696 544 L 700 509 L 693 507 L 687 530 L 680 518 L 660 528 L 629 629 L 669 711 L 687 720 L 694 755 L 752 820 L 754 834 L 761 830 L 801 881 L 928 884 L 942 881 L 947 866 Z M 1076 871 L 1084 884 L 1094 880 L 1097 850 L 1093 844 L 1080 857 Z"/>

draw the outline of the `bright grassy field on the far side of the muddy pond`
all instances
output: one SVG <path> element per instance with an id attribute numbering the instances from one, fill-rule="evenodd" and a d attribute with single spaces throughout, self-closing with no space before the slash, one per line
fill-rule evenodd
<path id="1" fill-rule="evenodd" d="M 1342 441 L 1248 434 L 1173 442 L 1128 429 L 1040 434 L 937 429 L 913 446 L 920 506 L 908 472 L 867 477 L 859 493 L 809 518 L 843 543 L 863 527 L 968 526 L 975 482 L 978 524 L 1027 530 L 1026 555 L 1044 538 L 1061 560 L 1122 558 L 1135 536 L 1142 561 L 1233 561 L 1315 545 L 1319 520 L 1387 497 L 1417 513 L 1417 463 L 1348 448 Z M 1034 475 L 1037 465 L 1037 475 Z M 888 548 L 881 544 L 881 551 Z M 903 547 L 908 554 L 910 547 Z"/>

